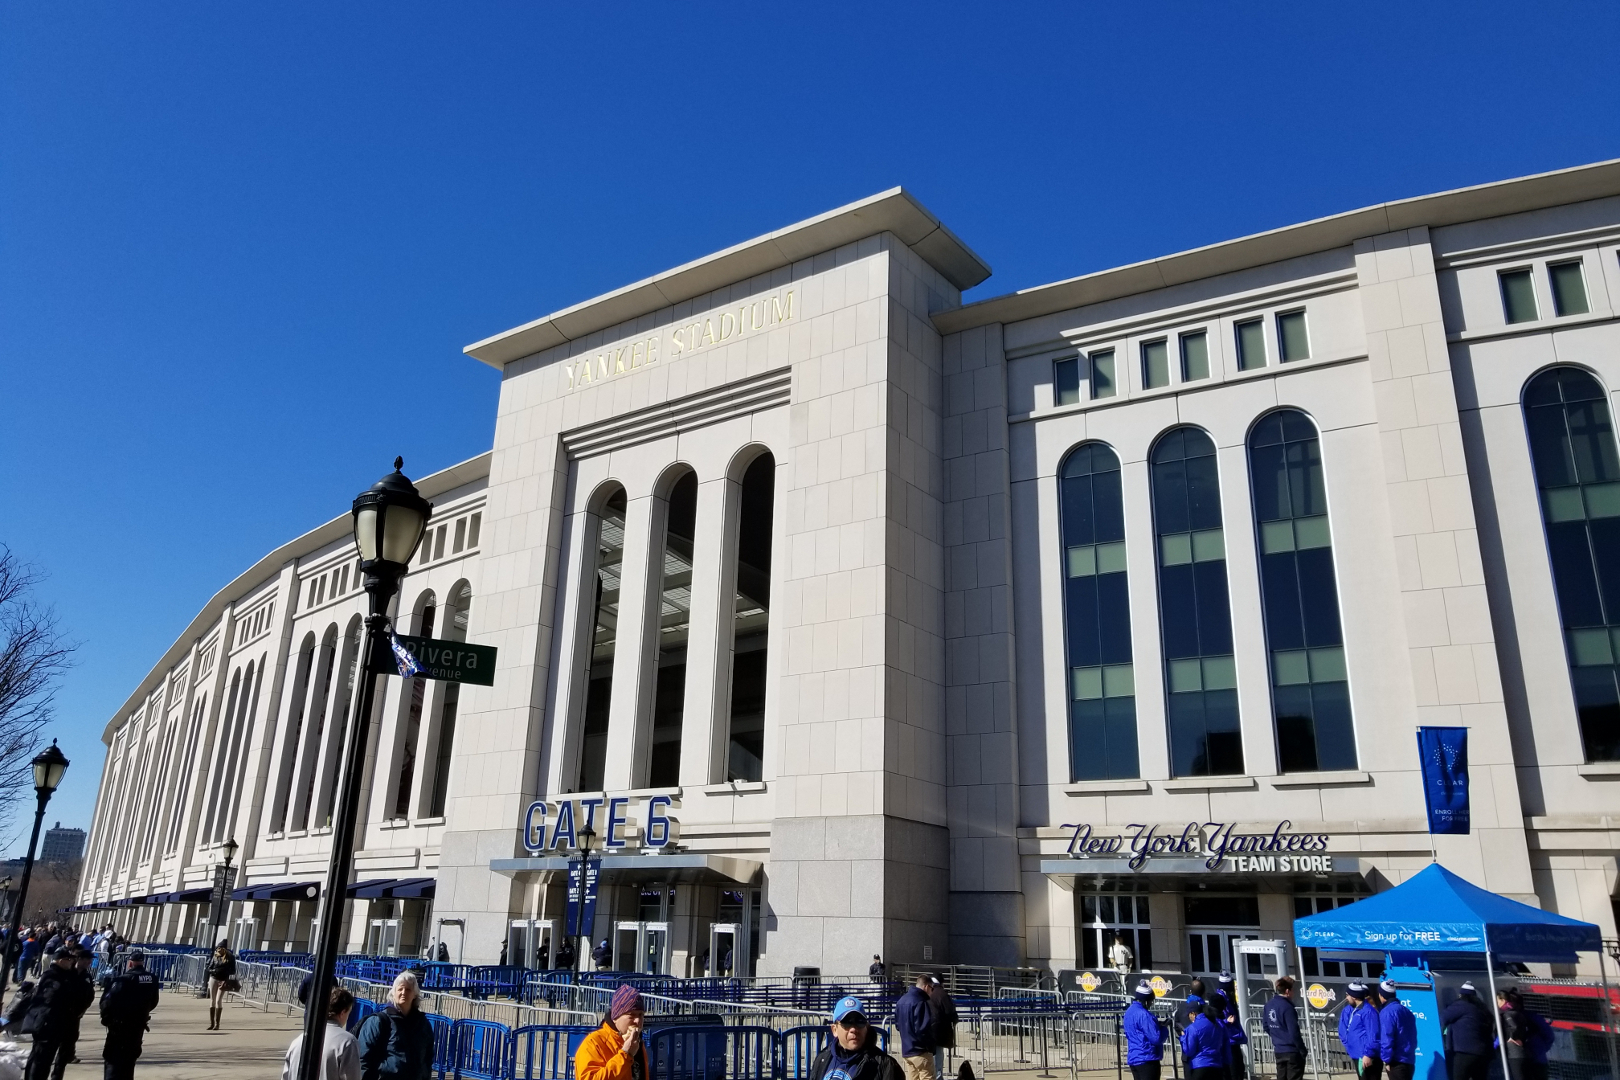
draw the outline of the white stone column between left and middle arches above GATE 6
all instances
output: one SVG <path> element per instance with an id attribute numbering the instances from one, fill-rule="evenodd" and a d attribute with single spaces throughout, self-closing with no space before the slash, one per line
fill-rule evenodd
<path id="1" fill-rule="evenodd" d="M 609 792 L 622 792 L 637 784 L 637 755 L 643 753 L 638 743 L 643 708 L 643 683 L 648 670 L 646 651 L 651 643 L 648 635 L 648 602 L 658 591 L 658 567 L 653 565 L 654 549 L 661 554 L 661 544 L 654 544 L 653 525 L 661 515 L 654 513 L 656 500 L 651 495 L 632 499 L 624 513 L 624 562 L 619 578 L 619 628 L 614 636 L 612 661 L 612 701 L 608 709 L 608 764 L 603 771 L 603 787 Z M 601 827 L 598 826 L 598 832 Z"/>

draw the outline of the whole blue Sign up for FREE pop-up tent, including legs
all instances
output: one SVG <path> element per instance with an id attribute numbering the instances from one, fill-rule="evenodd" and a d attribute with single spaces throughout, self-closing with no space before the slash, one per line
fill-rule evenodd
<path id="1" fill-rule="evenodd" d="M 1486 962 L 1486 978 L 1495 996 L 1495 962 L 1573 963 L 1576 952 L 1597 952 L 1604 978 L 1604 1001 L 1609 999 L 1609 975 L 1604 972 L 1602 933 L 1592 923 L 1565 918 L 1539 907 L 1510 900 L 1458 878 L 1445 866 L 1430 863 L 1388 892 L 1320 915 L 1294 920 L 1294 944 L 1304 949 L 1364 949 L 1387 952 L 1392 968 L 1401 965 L 1424 983 L 1400 983 L 1403 991 L 1418 991 L 1414 999 L 1439 1006 L 1434 984 L 1422 972 L 1443 959 L 1442 954 L 1479 954 Z M 1422 988 L 1422 989 L 1419 989 Z M 1405 999 L 1405 994 L 1403 994 Z M 1426 1002 L 1426 1004 L 1427 1004 Z M 1418 1014 L 1419 1077 L 1447 1075 L 1440 1052 L 1442 1033 L 1437 1009 L 1414 1009 Z M 1502 1048 L 1502 1070 L 1508 1075 L 1507 1043 L 1502 1038 L 1502 1015 L 1497 1020 L 1497 1043 Z M 1607 1027 L 1605 1027 L 1607 1036 Z M 1610 1075 L 1615 1049 L 1609 1040 Z M 1424 1059 L 1429 1059 L 1424 1062 Z M 1429 1067 L 1426 1069 L 1424 1064 Z"/>

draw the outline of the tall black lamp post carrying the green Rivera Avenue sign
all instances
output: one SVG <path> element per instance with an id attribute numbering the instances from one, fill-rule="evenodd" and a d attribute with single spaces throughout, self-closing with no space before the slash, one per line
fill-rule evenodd
<path id="1" fill-rule="evenodd" d="M 360 708 L 350 722 L 337 813 L 332 816 L 332 860 L 326 870 L 326 892 L 321 894 L 314 972 L 309 978 L 305 1041 L 298 1059 L 300 1080 L 321 1080 L 326 997 L 337 975 L 337 954 L 345 933 L 343 900 L 355 863 L 355 821 L 360 816 L 360 779 L 366 764 L 366 729 L 371 727 L 376 704 L 377 675 L 399 674 L 389 648 L 387 610 L 433 515 L 433 504 L 423 499 L 400 473 L 403 466 L 403 458 L 394 458 L 394 471 L 355 499 L 355 547 L 360 549 L 360 572 L 371 597 L 371 614 L 366 615 L 366 641 L 360 651 Z"/>

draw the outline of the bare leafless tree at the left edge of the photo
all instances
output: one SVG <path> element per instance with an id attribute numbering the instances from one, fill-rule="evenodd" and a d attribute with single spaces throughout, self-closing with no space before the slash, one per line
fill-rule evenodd
<path id="1" fill-rule="evenodd" d="M 78 648 L 57 630 L 57 614 L 34 599 L 40 576 L 0 544 L 0 819 L 34 785 L 29 763 Z"/>

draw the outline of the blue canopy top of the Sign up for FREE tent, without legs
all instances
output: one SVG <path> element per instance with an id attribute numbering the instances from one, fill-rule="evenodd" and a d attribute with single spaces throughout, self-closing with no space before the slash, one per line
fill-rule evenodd
<path id="1" fill-rule="evenodd" d="M 1510 900 L 1439 863 L 1388 892 L 1294 920 L 1294 944 L 1392 954 L 1489 952 L 1523 963 L 1575 963 L 1602 949 L 1602 933 L 1539 907 Z"/>

